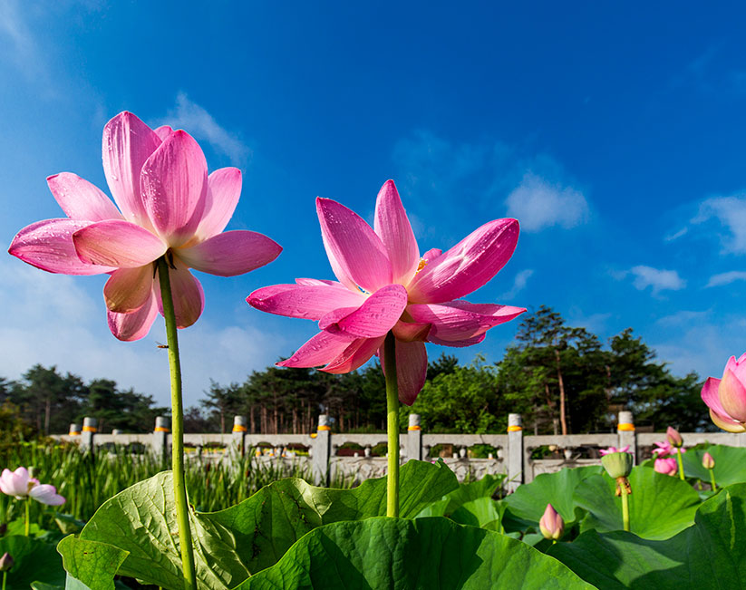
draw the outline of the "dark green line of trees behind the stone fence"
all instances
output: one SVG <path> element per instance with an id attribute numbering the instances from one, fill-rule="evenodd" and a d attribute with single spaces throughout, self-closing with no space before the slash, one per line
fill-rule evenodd
<path id="1" fill-rule="evenodd" d="M 632 329 L 606 345 L 585 328 L 568 326 L 542 306 L 518 324 L 515 343 L 499 363 L 478 356 L 460 365 L 442 353 L 428 365 L 428 379 L 406 414 L 421 414 L 422 428 L 440 432 L 504 432 L 509 412 L 523 415 L 537 433 L 604 431 L 619 410 L 635 412 L 635 423 L 655 430 L 712 428 L 700 399 L 702 382 L 692 372 L 675 377 Z M 267 367 L 243 383 L 212 382 L 185 412 L 188 432 L 228 432 L 235 414 L 248 417 L 252 432 L 304 433 L 315 430 L 318 414 L 334 419 L 334 430 L 385 430 L 385 384 L 378 363 L 344 375 L 313 369 Z M 35 365 L 19 382 L 0 378 L 0 403 L 38 433 L 64 432 L 71 421 L 95 416 L 100 428 L 147 431 L 157 415 L 148 395 L 120 391 L 116 383 L 89 383 L 55 367 Z"/>

